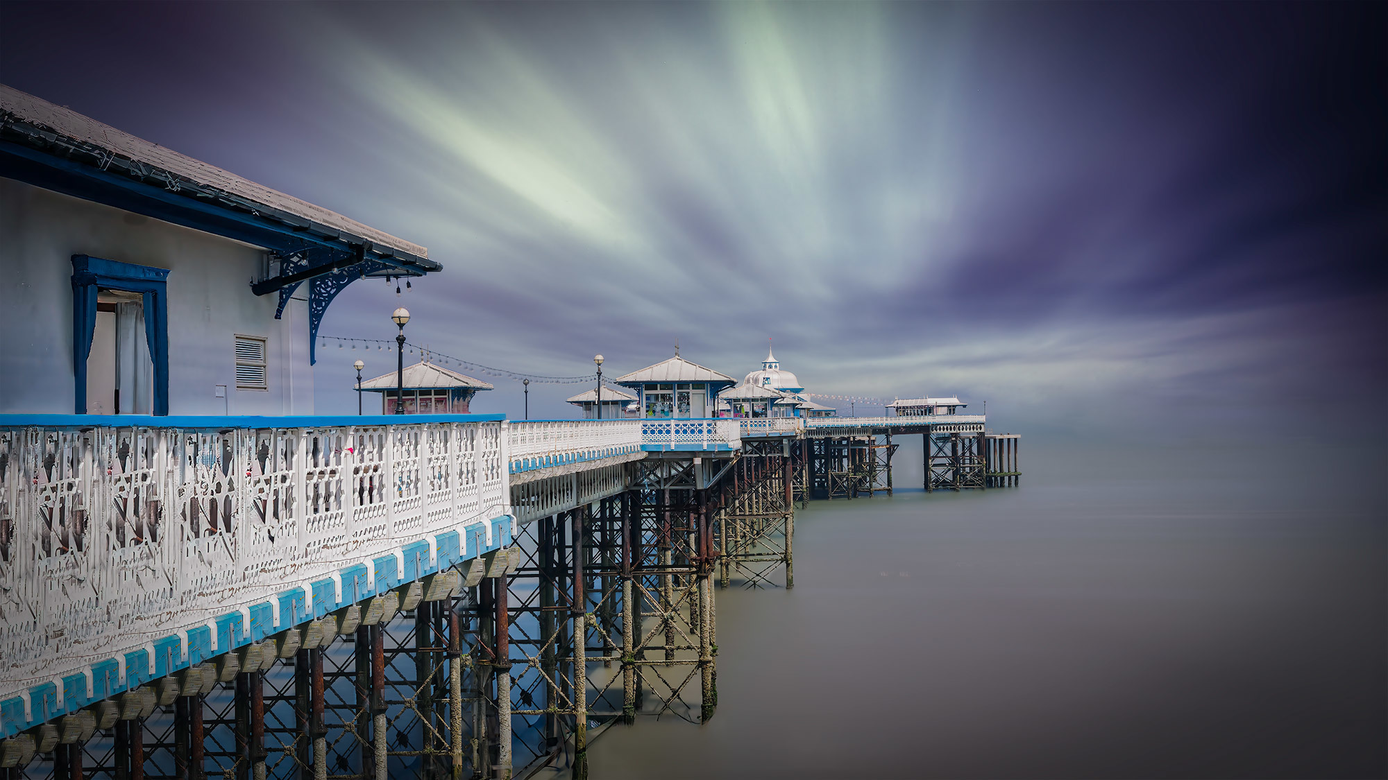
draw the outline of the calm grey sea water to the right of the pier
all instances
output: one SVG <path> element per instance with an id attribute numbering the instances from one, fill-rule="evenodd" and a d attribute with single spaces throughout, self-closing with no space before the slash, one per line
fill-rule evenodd
<path id="1" fill-rule="evenodd" d="M 1210 458 L 811 504 L 794 590 L 718 593 L 713 720 L 611 729 L 594 777 L 1382 776 L 1381 462 Z"/>

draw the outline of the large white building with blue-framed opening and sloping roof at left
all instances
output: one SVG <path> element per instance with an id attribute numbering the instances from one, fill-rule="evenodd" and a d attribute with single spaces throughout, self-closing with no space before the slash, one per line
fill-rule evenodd
<path id="1" fill-rule="evenodd" d="M 428 250 L 0 85 L 0 414 L 314 411 L 314 337 Z"/>

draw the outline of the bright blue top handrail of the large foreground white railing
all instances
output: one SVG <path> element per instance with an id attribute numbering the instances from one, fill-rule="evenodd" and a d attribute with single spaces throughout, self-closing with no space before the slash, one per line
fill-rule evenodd
<path id="1" fill-rule="evenodd" d="M 0 427 L 347 427 L 428 422 L 500 422 L 507 415 L 0 415 Z"/>

